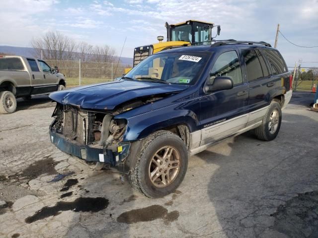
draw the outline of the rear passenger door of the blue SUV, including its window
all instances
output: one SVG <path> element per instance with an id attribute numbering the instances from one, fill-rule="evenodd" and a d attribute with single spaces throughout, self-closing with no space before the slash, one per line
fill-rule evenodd
<path id="1" fill-rule="evenodd" d="M 247 125 L 259 122 L 266 113 L 269 104 L 269 91 L 275 88 L 275 79 L 271 77 L 263 56 L 257 49 L 241 50 L 248 82 Z"/>

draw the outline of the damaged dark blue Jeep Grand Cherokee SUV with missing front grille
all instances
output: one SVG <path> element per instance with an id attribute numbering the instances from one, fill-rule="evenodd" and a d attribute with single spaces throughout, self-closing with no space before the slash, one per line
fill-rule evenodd
<path id="1" fill-rule="evenodd" d="M 264 42 L 170 49 L 119 81 L 50 94 L 57 102 L 50 137 L 95 169 L 117 167 L 135 189 L 162 197 L 182 182 L 189 156 L 248 130 L 273 140 L 292 79 Z"/>

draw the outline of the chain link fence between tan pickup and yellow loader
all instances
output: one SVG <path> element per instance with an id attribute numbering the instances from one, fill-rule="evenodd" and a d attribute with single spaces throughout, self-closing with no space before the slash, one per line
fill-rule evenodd
<path id="1" fill-rule="evenodd" d="M 81 61 L 81 60 L 45 60 L 52 68 L 59 67 L 66 77 L 67 86 L 79 86 L 112 81 L 122 76 L 125 68 L 131 65 L 117 62 Z"/>

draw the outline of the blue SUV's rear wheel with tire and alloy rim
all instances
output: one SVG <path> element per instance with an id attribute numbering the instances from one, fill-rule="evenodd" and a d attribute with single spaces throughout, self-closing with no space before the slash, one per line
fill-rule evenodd
<path id="1" fill-rule="evenodd" d="M 260 140 L 271 141 L 276 138 L 282 123 L 282 110 L 278 102 L 272 101 L 268 107 L 262 124 L 254 129 Z"/>

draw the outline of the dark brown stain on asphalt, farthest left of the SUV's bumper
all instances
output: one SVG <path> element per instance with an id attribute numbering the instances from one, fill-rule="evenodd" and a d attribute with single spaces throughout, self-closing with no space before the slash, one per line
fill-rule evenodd
<path id="1" fill-rule="evenodd" d="M 12 177 L 22 177 L 23 179 L 32 180 L 43 174 L 55 175 L 57 174 L 57 172 L 54 167 L 58 163 L 59 162 L 53 161 L 53 158 L 51 157 L 45 157 L 43 160 L 36 161 L 33 164 L 29 165 L 22 171 L 22 173 L 19 173 Z"/>

